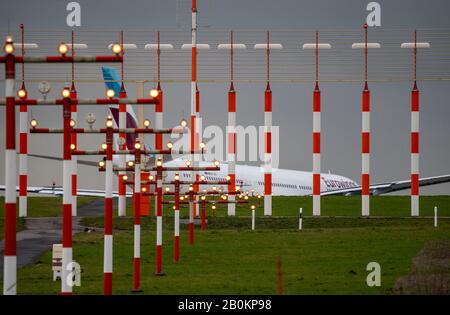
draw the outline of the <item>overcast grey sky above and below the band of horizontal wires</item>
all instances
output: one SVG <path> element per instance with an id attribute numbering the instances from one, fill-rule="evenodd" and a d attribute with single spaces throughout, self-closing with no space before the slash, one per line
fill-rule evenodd
<path id="1" fill-rule="evenodd" d="M 36 0 L 8 1 L 0 12 L 0 30 L 6 35 L 10 28 L 25 23 L 27 29 L 70 29 L 66 26 L 65 6 L 69 1 Z M 190 27 L 190 1 L 182 1 L 177 13 L 177 1 L 159 0 L 80 0 L 82 27 L 87 29 L 173 29 Z M 199 24 L 208 29 L 332 29 L 360 28 L 367 15 L 367 0 L 198 0 Z M 442 28 L 450 29 L 446 0 L 378 1 L 382 7 L 383 28 Z M 202 27 L 199 29 L 201 34 Z M 55 43 L 56 45 L 56 43 Z M 55 84 L 55 90 L 57 90 Z M 323 91 L 323 144 L 322 170 L 360 178 L 360 93 L 356 83 L 322 84 Z M 385 182 L 409 178 L 410 105 L 408 82 L 373 83 L 372 106 L 372 181 Z M 421 175 L 449 174 L 450 82 L 420 83 L 421 107 Z M 202 117 L 206 124 L 225 125 L 227 84 L 204 84 L 202 90 Z M 274 93 L 275 125 L 280 126 L 280 167 L 311 170 L 311 84 L 276 83 Z M 97 96 L 99 84 L 80 84 L 83 96 Z M 238 112 L 241 125 L 263 123 L 264 84 L 242 83 L 238 89 Z M 81 92 L 82 91 L 82 92 Z M 189 112 L 189 85 L 168 84 L 165 91 L 165 125 L 180 120 L 180 111 Z M 34 93 L 34 94 L 33 94 Z M 134 95 L 134 86 L 129 86 Z M 32 92 L 32 96 L 37 96 Z M 0 96 L 4 97 L 4 84 L 0 83 Z M 105 111 L 81 109 L 80 115 L 93 111 L 100 117 Z M 42 125 L 58 126 L 60 112 L 35 109 Z M 4 109 L 0 109 L 4 120 Z M 4 150 L 4 130 L 0 128 L 0 150 Z M 60 155 L 58 137 L 53 141 L 39 136 L 30 137 L 30 152 Z M 100 143 L 100 140 L 96 144 Z M 93 143 L 80 141 L 80 146 Z M 62 164 L 31 159 L 30 185 L 49 185 L 53 180 L 61 183 Z M 0 179 L 4 178 L 4 156 L 0 155 Z M 3 180 L 0 180 L 3 183 Z M 102 188 L 103 176 L 96 170 L 80 166 L 79 186 Z M 423 193 L 448 194 L 450 185 L 424 188 Z"/>

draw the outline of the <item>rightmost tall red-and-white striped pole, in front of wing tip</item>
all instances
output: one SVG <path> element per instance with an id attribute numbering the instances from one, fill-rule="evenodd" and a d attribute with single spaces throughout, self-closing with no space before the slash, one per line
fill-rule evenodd
<path id="1" fill-rule="evenodd" d="M 411 91 L 411 216 L 419 216 L 419 101 L 417 31 L 414 31 L 414 86 Z"/>

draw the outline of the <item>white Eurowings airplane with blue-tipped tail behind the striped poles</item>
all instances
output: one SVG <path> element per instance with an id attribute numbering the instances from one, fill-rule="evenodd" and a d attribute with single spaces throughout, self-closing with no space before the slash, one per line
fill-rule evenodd
<path id="1" fill-rule="evenodd" d="M 105 80 L 105 84 L 108 89 L 113 89 L 116 92 L 116 95 L 120 92 L 120 76 L 117 73 L 115 68 L 111 67 L 103 67 L 103 77 Z M 109 107 L 111 116 L 113 117 L 116 125 L 119 119 L 119 111 L 117 105 L 111 105 Z M 138 125 L 137 117 L 133 111 L 131 105 L 127 105 L 127 127 L 136 128 Z M 136 140 L 136 135 L 127 135 L 126 145 L 128 149 L 132 149 L 134 142 Z M 116 141 L 114 141 L 116 143 Z M 145 145 L 146 148 L 150 148 L 149 145 Z M 59 160 L 62 161 L 61 158 L 51 157 L 51 156 L 43 156 L 37 154 L 29 154 L 32 157 L 50 159 L 50 160 Z M 134 156 L 127 156 L 127 161 L 134 160 Z M 188 157 L 180 157 L 175 158 L 171 161 L 166 161 L 164 163 L 165 166 L 184 166 Z M 152 156 L 149 156 L 151 165 Z M 79 164 L 89 165 L 98 167 L 98 163 L 91 161 L 83 161 L 78 160 Z M 150 164 L 149 163 L 149 164 Z M 114 156 L 113 158 L 114 166 L 119 165 L 119 157 Z M 211 166 L 211 162 L 200 162 L 200 166 Z M 228 175 L 228 164 L 226 161 L 222 161 L 220 164 L 220 171 L 205 171 L 199 172 L 200 175 L 205 176 L 208 181 L 224 181 Z M 169 182 L 173 181 L 175 174 L 170 172 L 165 177 L 164 181 Z M 180 172 L 181 180 L 191 181 L 191 172 Z M 262 195 L 264 193 L 264 172 L 262 167 L 257 166 L 248 166 L 248 165 L 236 165 L 236 185 L 242 188 L 242 191 L 252 192 L 254 194 Z M 274 196 L 308 196 L 312 194 L 312 178 L 313 175 L 311 172 L 303 172 L 296 170 L 287 170 L 287 169 L 273 169 L 272 170 L 272 195 Z M 450 182 L 450 175 L 442 175 L 428 178 L 421 178 L 419 180 L 419 186 L 429 186 L 429 185 L 437 185 L 441 183 Z M 218 189 L 227 190 L 226 187 L 217 187 Z M 375 184 L 370 186 L 370 193 L 373 195 L 380 195 L 394 191 L 406 190 L 411 188 L 410 180 L 403 181 L 393 181 L 382 184 Z M 0 191 L 4 190 L 5 186 L 0 185 Z M 17 188 L 18 189 L 18 188 Z M 185 188 L 187 189 L 187 187 Z M 329 196 L 329 195 L 360 195 L 361 194 L 361 185 L 356 183 L 355 181 L 336 174 L 321 174 L 321 195 Z M 62 195 L 63 190 L 62 187 L 56 186 L 45 186 L 45 187 L 28 187 L 28 191 L 32 193 L 39 194 L 49 194 L 49 195 Z M 104 196 L 104 190 L 93 190 L 93 189 L 78 189 L 77 194 L 79 196 Z M 131 193 L 127 193 L 128 196 L 131 196 Z M 117 192 L 113 193 L 113 196 L 118 196 Z"/>

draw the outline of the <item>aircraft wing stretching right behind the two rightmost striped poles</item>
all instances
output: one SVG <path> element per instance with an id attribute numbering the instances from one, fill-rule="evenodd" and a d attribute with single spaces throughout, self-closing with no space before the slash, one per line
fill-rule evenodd
<path id="1" fill-rule="evenodd" d="M 434 177 L 426 177 L 419 179 L 419 186 L 431 186 L 442 183 L 450 182 L 450 175 L 441 175 Z M 398 182 L 384 183 L 384 184 L 376 184 L 370 186 L 370 194 L 371 195 L 382 195 L 394 191 L 401 191 L 411 188 L 411 180 L 403 180 Z M 322 196 L 353 196 L 353 195 L 361 195 L 361 186 L 332 190 L 332 191 L 324 191 L 321 193 Z"/>

